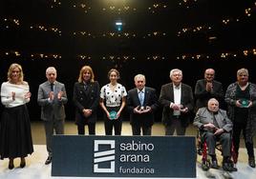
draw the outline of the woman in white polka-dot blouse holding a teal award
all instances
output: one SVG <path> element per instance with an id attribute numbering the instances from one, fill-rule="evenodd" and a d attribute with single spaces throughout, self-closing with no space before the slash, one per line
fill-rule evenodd
<path id="1" fill-rule="evenodd" d="M 113 127 L 115 135 L 121 134 L 121 112 L 125 106 L 127 96 L 126 89 L 117 83 L 119 71 L 109 70 L 110 83 L 100 89 L 100 107 L 105 111 L 105 133 L 112 135 Z"/>

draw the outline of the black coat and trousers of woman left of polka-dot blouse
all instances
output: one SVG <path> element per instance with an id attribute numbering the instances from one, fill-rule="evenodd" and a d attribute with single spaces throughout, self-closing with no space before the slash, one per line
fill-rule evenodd
<path id="1" fill-rule="evenodd" d="M 97 82 L 76 82 L 74 85 L 73 101 L 75 104 L 75 124 L 78 134 L 84 134 L 84 126 L 88 125 L 89 134 L 96 134 L 96 110 L 99 103 L 99 85 Z M 85 117 L 83 109 L 92 109 L 92 114 Z"/>

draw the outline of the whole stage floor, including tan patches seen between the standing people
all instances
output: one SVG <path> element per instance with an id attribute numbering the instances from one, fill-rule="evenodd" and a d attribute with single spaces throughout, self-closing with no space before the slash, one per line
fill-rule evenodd
<path id="1" fill-rule="evenodd" d="M 86 128 L 86 133 L 88 130 Z M 72 121 L 66 121 L 65 123 L 65 134 L 77 134 L 77 129 Z M 186 130 L 186 135 L 196 136 L 197 130 L 195 127 L 190 125 Z M 96 135 L 104 135 L 104 125 L 103 122 L 96 123 Z M 132 135 L 131 126 L 129 122 L 125 121 L 122 125 L 122 135 Z M 161 123 L 156 123 L 152 129 L 152 135 L 163 136 L 164 129 Z M 256 144 L 256 137 L 254 137 L 254 142 Z M 34 152 L 31 156 L 27 157 L 27 166 L 24 169 L 18 168 L 19 159 L 14 160 L 14 169 L 8 169 L 9 160 L 0 160 L 0 179 L 49 179 L 49 178 L 65 178 L 72 179 L 74 177 L 52 177 L 51 176 L 51 165 L 46 166 L 44 162 L 47 158 L 46 146 L 45 146 L 45 133 L 42 121 L 32 121 L 32 141 L 34 145 Z M 255 179 L 256 169 L 252 169 L 247 165 L 247 154 L 245 151 L 244 139 L 241 140 L 241 147 L 239 161 L 238 161 L 238 171 L 231 173 L 231 176 L 236 179 Z M 255 149 L 256 150 L 256 149 Z M 256 153 L 255 153 L 256 155 Z M 218 156 L 221 156 L 220 154 Z M 222 159 L 218 158 L 219 164 L 221 164 Z M 198 156 L 197 162 L 197 178 L 224 178 L 223 171 L 221 169 L 210 169 L 204 172 L 201 168 L 201 156 Z M 215 176 L 215 177 L 214 177 Z M 81 178 L 81 177 L 77 177 Z M 88 178 L 88 177 L 87 177 Z M 89 178 L 88 178 L 89 179 Z M 126 178 L 129 179 L 129 178 Z M 133 178 L 135 179 L 135 178 Z M 151 178 L 154 179 L 154 178 Z"/>

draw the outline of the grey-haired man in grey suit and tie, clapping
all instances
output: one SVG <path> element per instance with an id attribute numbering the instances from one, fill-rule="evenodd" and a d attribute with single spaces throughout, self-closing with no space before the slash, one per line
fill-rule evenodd
<path id="1" fill-rule="evenodd" d="M 39 85 L 37 103 L 41 106 L 41 119 L 44 121 L 46 146 L 48 158 L 45 165 L 52 162 L 52 138 L 53 130 L 56 134 L 64 133 L 65 109 L 64 104 L 68 102 L 64 84 L 57 82 L 55 68 L 49 67 L 46 70 L 48 81 Z"/>

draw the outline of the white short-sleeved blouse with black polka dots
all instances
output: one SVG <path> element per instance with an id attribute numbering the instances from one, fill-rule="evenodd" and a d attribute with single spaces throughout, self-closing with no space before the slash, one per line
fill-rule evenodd
<path id="1" fill-rule="evenodd" d="M 105 100 L 106 107 L 119 107 L 122 97 L 125 96 L 127 96 L 125 87 L 118 83 L 114 91 L 110 88 L 110 84 L 100 89 L 100 98 Z"/>

